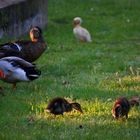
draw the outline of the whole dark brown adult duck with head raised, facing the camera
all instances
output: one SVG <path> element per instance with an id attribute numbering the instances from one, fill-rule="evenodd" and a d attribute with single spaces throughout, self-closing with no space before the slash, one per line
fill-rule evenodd
<path id="1" fill-rule="evenodd" d="M 32 27 L 29 35 L 30 40 L 18 40 L 0 44 L 0 58 L 16 56 L 28 62 L 36 61 L 45 52 L 47 45 L 40 27 Z"/>

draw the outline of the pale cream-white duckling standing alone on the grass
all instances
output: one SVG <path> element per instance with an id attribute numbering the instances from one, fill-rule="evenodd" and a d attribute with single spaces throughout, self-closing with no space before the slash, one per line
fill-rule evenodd
<path id="1" fill-rule="evenodd" d="M 75 17 L 73 19 L 73 34 L 76 37 L 76 39 L 80 42 L 92 42 L 91 35 L 89 31 L 81 26 L 82 24 L 82 18 L 81 17 Z"/>

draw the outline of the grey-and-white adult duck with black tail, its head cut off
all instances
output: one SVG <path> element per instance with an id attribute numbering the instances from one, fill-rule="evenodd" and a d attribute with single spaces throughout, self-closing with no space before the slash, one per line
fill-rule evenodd
<path id="1" fill-rule="evenodd" d="M 35 64 L 26 60 L 10 56 L 0 59 L 0 80 L 11 83 L 16 89 L 18 82 L 33 81 L 41 75 Z"/>

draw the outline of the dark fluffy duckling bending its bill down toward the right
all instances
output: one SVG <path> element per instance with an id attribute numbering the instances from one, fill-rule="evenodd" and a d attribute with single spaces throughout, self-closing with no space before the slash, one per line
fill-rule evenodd
<path id="1" fill-rule="evenodd" d="M 64 112 L 70 112 L 73 109 L 76 109 L 80 113 L 83 113 L 81 105 L 79 103 L 70 103 L 62 97 L 56 97 L 49 102 L 45 110 L 54 115 L 63 115 Z"/>

